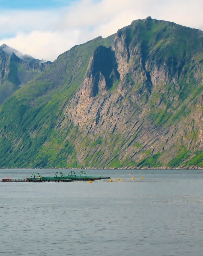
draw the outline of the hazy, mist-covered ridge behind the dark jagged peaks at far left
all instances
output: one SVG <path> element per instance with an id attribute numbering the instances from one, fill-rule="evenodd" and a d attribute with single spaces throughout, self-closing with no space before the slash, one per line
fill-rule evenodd
<path id="1" fill-rule="evenodd" d="M 2 49 L 5 54 L 7 54 L 8 56 L 11 56 L 12 53 L 15 53 L 17 57 L 19 57 L 20 59 L 22 59 L 23 61 L 26 62 L 30 62 L 32 64 L 36 64 L 36 63 L 44 63 L 46 61 L 44 61 L 43 59 L 35 59 L 32 56 L 28 55 L 28 54 L 22 54 L 20 51 L 6 45 L 6 44 L 2 44 L 0 46 L 0 49 Z"/>

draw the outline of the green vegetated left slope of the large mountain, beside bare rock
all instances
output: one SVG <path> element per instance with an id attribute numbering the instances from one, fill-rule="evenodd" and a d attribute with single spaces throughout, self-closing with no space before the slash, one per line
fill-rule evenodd
<path id="1" fill-rule="evenodd" d="M 0 111 L 0 166 L 80 166 L 73 145 L 65 142 L 72 126 L 62 132 L 55 126 L 60 122 L 63 106 L 81 83 L 92 51 L 98 45 L 110 46 L 113 38 L 97 38 L 73 47 L 4 103 Z M 78 69 L 74 71 L 76 65 Z M 68 157 L 72 157 L 69 165 Z"/>

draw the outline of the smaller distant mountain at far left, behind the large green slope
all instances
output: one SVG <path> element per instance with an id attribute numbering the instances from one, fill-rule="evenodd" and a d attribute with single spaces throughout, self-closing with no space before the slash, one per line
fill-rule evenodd
<path id="1" fill-rule="evenodd" d="M 51 62 L 34 59 L 3 44 L 0 46 L 0 105 Z"/>

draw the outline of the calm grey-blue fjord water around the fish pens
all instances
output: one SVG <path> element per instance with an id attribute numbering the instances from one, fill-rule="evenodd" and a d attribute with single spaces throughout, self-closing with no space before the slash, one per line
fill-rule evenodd
<path id="1" fill-rule="evenodd" d="M 33 171 L 1 169 L 0 178 Z M 1 182 L 0 255 L 202 255 L 203 171 L 85 171 L 113 182 Z"/>

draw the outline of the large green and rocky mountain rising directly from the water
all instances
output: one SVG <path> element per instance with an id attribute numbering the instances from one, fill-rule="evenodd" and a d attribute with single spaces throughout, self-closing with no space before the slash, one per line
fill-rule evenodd
<path id="1" fill-rule="evenodd" d="M 203 32 L 148 17 L 61 54 L 0 109 L 0 166 L 203 166 Z"/>

